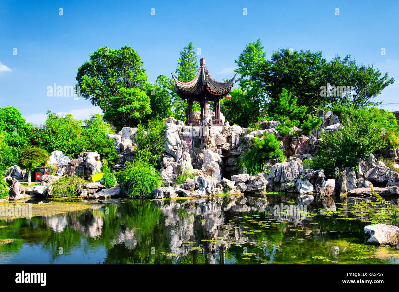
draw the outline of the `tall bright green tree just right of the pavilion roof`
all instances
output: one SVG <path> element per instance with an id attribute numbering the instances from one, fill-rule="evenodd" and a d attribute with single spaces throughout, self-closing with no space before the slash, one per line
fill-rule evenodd
<path id="1" fill-rule="evenodd" d="M 261 106 L 265 104 L 265 73 L 268 72 L 270 62 L 265 59 L 265 52 L 260 39 L 249 43 L 244 51 L 234 60 L 237 64 L 235 72 L 241 74 L 235 82 L 239 82 L 243 98 L 252 100 L 251 122 L 256 122 Z"/>

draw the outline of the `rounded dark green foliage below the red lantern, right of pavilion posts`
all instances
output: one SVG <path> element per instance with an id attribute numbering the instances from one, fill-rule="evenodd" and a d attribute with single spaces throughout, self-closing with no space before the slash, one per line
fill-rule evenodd
<path id="1" fill-rule="evenodd" d="M 229 121 L 230 125 L 248 127 L 253 122 L 253 99 L 244 94 L 240 88 L 231 90 L 231 98 L 220 100 L 220 111 Z"/>

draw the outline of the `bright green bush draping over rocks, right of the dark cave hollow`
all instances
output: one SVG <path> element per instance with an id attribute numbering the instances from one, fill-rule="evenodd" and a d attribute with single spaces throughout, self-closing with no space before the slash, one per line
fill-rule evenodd
<path id="1" fill-rule="evenodd" d="M 273 134 L 266 134 L 263 139 L 253 138 L 254 145 L 241 154 L 236 165 L 248 174 L 255 175 L 265 169 L 265 160 L 279 157 L 284 161 L 285 157 L 280 150 L 280 141 Z"/>

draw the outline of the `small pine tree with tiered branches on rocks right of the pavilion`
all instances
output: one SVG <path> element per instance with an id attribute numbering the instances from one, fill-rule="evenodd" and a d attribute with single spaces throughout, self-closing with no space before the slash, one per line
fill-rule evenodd
<path id="1" fill-rule="evenodd" d="M 321 118 L 311 117 L 307 106 L 297 106 L 297 97 L 292 92 L 282 88 L 279 94 L 279 104 L 275 108 L 275 117 L 279 124 L 275 127 L 282 136 L 290 136 L 296 141 L 294 154 L 299 147 L 299 137 L 310 135 L 312 129 L 321 125 Z"/>

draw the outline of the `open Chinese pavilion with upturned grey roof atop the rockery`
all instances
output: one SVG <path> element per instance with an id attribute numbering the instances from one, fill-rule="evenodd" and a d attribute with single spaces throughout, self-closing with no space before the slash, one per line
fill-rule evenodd
<path id="1" fill-rule="evenodd" d="M 178 94 L 188 102 L 188 119 L 186 125 L 199 125 L 203 119 L 204 110 L 207 114 L 207 102 L 212 101 L 215 104 L 215 118 L 212 119 L 213 125 L 221 126 L 220 119 L 220 98 L 226 96 L 233 87 L 233 82 L 237 73 L 229 81 L 219 82 L 212 78 L 205 67 L 205 59 L 199 60 L 199 71 L 193 80 L 189 82 L 179 81 L 172 73 L 175 83 L 170 81 Z M 201 119 L 193 120 L 192 106 L 193 102 L 199 102 L 201 106 Z"/>

